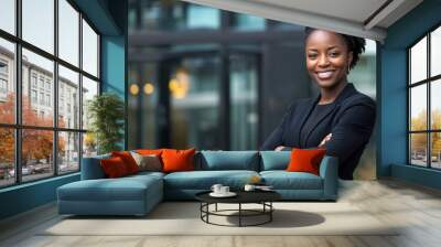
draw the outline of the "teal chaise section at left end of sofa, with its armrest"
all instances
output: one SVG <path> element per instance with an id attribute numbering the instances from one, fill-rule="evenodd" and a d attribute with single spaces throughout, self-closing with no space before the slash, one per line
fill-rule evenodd
<path id="1" fill-rule="evenodd" d="M 163 200 L 163 173 L 104 179 L 99 165 L 104 158 L 83 159 L 84 180 L 57 189 L 60 214 L 144 215 Z"/>

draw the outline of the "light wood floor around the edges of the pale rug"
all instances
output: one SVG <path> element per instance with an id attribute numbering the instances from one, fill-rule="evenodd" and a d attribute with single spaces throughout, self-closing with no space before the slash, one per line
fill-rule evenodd
<path id="1" fill-rule="evenodd" d="M 55 205 L 0 222 L 0 246 L 116 247 L 278 247 L 278 246 L 441 246 L 441 192 L 396 180 L 341 184 L 340 201 L 349 202 L 380 222 L 400 223 L 394 236 L 40 236 L 60 221 Z M 353 224 L 347 222 L 347 224 Z M 191 227 L 191 226 L 189 226 Z"/>

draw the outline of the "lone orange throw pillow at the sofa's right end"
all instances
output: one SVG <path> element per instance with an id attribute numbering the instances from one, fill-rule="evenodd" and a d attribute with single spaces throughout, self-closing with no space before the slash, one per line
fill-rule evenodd
<path id="1" fill-rule="evenodd" d="M 287 171 L 309 172 L 319 175 L 320 162 L 322 162 L 325 153 L 325 149 L 292 149 Z"/>

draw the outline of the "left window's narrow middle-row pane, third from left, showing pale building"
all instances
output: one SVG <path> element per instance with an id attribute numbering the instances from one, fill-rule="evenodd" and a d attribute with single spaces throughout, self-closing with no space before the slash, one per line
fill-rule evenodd
<path id="1" fill-rule="evenodd" d="M 79 75 L 58 66 L 58 127 L 79 129 Z"/>

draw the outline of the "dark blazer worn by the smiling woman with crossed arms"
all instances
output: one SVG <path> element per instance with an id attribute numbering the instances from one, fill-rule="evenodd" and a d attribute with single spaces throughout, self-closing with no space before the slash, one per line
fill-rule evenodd
<path id="1" fill-rule="evenodd" d="M 310 126 L 304 126 L 320 95 L 315 98 L 293 101 L 281 124 L 265 141 L 261 150 L 275 150 L 278 146 L 290 148 L 314 148 L 332 133 L 325 144 L 326 154 L 338 158 L 338 176 L 352 180 L 365 146 L 375 125 L 375 101 L 358 93 L 348 83 L 332 107 L 326 108 Z M 302 135 L 304 128 L 306 135 Z"/>

